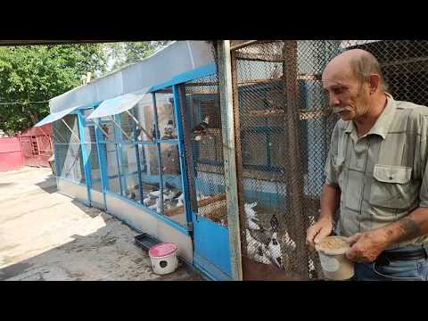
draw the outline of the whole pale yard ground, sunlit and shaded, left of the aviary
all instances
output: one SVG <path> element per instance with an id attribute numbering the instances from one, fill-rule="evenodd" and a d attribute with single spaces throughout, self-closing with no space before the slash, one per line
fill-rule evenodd
<path id="1" fill-rule="evenodd" d="M 0 280 L 202 280 L 180 262 L 157 276 L 138 233 L 56 193 L 50 169 L 0 172 Z"/>

